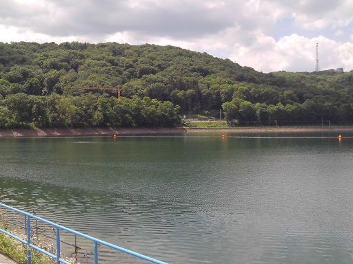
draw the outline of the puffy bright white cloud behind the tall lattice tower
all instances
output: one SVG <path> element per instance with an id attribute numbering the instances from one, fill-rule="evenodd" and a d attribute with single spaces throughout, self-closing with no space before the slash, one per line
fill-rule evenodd
<path id="1" fill-rule="evenodd" d="M 314 72 L 316 42 L 319 42 L 321 69 L 336 67 L 352 69 L 353 44 L 337 43 L 323 36 L 308 39 L 292 34 L 284 36 L 279 41 L 263 36 L 255 45 L 241 48 L 242 52 L 232 54 L 231 58 L 246 65 L 254 65 L 263 72 L 280 70 Z"/>

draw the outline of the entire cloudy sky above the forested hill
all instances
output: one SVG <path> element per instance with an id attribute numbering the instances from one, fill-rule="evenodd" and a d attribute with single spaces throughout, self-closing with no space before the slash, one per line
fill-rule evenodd
<path id="1" fill-rule="evenodd" d="M 353 69 L 352 0 L 0 0 L 0 41 L 176 45 L 262 72 Z"/>

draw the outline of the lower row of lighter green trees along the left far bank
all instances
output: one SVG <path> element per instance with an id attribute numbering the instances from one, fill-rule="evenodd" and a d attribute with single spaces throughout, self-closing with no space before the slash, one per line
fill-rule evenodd
<path id="1" fill-rule="evenodd" d="M 147 97 L 13 94 L 0 100 L 0 127 L 172 127 L 180 124 L 177 111 L 172 102 Z"/>

